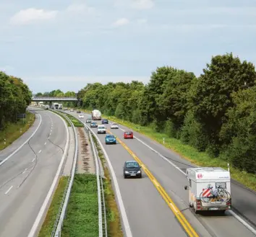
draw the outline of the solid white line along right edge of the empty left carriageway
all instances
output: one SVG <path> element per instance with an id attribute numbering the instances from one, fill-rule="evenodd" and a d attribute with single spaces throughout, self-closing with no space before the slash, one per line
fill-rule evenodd
<path id="1" fill-rule="evenodd" d="M 51 112 L 51 111 L 49 111 L 49 112 Z M 54 112 L 52 112 L 52 113 L 53 113 L 54 115 L 56 115 Z M 57 115 L 57 116 L 59 116 L 59 115 Z M 51 184 L 51 187 L 50 187 L 50 189 L 49 189 L 49 191 L 48 191 L 48 194 L 47 194 L 47 196 L 46 196 L 46 199 L 44 200 L 43 205 L 41 206 L 40 211 L 39 211 L 39 213 L 38 213 L 38 216 L 37 216 L 36 219 L 35 219 L 35 222 L 34 222 L 34 224 L 33 224 L 33 227 L 31 228 L 30 233 L 28 234 L 27 237 L 34 237 L 34 236 L 35 236 L 35 233 L 38 233 L 38 231 L 39 231 L 38 228 L 40 227 L 40 222 L 41 222 L 42 218 L 43 218 L 44 215 L 45 215 L 46 209 L 47 209 L 47 207 L 48 207 L 48 203 L 51 201 L 52 194 L 54 193 L 54 190 L 55 190 L 55 188 L 56 188 L 56 185 L 57 185 L 58 182 L 59 182 L 59 174 L 61 173 L 62 166 L 63 166 L 64 161 L 65 161 L 65 158 L 66 158 L 66 156 L 67 156 L 67 148 L 68 148 L 68 145 L 69 145 L 69 130 L 68 130 L 68 128 L 67 128 L 67 123 L 66 123 L 66 121 L 65 121 L 61 116 L 59 116 L 59 117 L 60 117 L 61 120 L 64 122 L 66 131 L 67 131 L 67 142 L 66 142 L 66 145 L 65 145 L 65 148 L 64 148 L 64 154 L 63 154 L 63 156 L 62 156 L 62 158 L 61 158 L 61 163 L 59 164 L 59 168 L 58 168 L 58 170 L 57 170 L 57 172 L 56 172 L 56 175 L 55 175 L 55 177 L 54 177 L 54 181 L 53 181 L 53 183 Z"/>

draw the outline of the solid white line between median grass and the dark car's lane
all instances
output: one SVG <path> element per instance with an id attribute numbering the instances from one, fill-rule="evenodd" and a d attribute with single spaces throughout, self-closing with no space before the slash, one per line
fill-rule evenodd
<path id="1" fill-rule="evenodd" d="M 83 124 L 88 127 L 88 125 L 86 125 L 85 123 L 83 123 Z M 123 202 L 123 200 L 121 198 L 121 191 L 119 189 L 119 184 L 117 182 L 116 174 L 114 172 L 114 169 L 113 169 L 113 166 L 111 164 L 111 161 L 108 158 L 108 154 L 106 153 L 106 150 L 103 147 L 103 145 L 101 143 L 101 140 L 98 138 L 98 136 L 93 132 L 93 130 L 90 127 L 88 127 L 88 128 L 93 133 L 93 135 L 95 135 L 95 138 L 98 140 L 98 143 L 101 145 L 101 149 L 102 149 L 102 151 L 104 153 L 106 161 L 108 162 L 108 167 L 109 167 L 109 169 L 111 171 L 112 181 L 114 182 L 114 187 L 116 189 L 116 197 L 117 197 L 117 200 L 118 200 L 118 203 L 119 203 L 119 209 L 120 209 L 120 212 L 121 212 L 121 218 L 122 218 L 123 224 L 124 224 L 124 231 L 126 233 L 126 237 L 132 237 L 132 231 L 131 231 L 131 228 L 129 226 L 129 221 L 128 221 L 128 218 L 127 218 L 126 210 L 124 208 L 124 202 Z"/>

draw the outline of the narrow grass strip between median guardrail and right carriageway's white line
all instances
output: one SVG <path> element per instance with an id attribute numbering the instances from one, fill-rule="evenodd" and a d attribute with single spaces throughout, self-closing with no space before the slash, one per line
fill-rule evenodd
<path id="1" fill-rule="evenodd" d="M 124 234 L 121 230 L 119 208 L 116 205 L 115 194 L 111 184 L 111 174 L 108 171 L 108 165 L 101 151 L 101 147 L 99 146 L 98 141 L 95 139 L 94 135 L 93 135 L 93 141 L 98 150 L 98 156 L 101 158 L 101 163 L 104 169 L 104 175 L 106 177 L 106 179 L 103 179 L 103 188 L 104 188 L 104 196 L 105 196 L 105 203 L 106 203 L 108 237 L 123 237 Z"/>

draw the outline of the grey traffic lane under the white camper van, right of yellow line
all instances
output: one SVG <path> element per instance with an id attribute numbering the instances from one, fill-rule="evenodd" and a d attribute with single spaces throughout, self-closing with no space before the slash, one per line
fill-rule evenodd
<path id="1" fill-rule="evenodd" d="M 240 223 L 231 214 L 216 215 L 195 215 L 194 210 L 189 208 L 189 194 L 184 190 L 184 186 L 188 185 L 187 179 L 184 174 L 178 171 L 174 166 L 166 164 L 166 161 L 159 158 L 157 154 L 150 151 L 146 146 L 136 139 L 124 139 L 121 137 L 120 130 L 111 130 L 114 135 L 119 137 L 127 146 L 140 158 L 140 160 L 148 167 L 158 182 L 163 185 L 166 192 L 174 200 L 180 210 L 184 210 L 184 215 L 193 226 L 198 226 L 199 229 L 202 225 L 213 235 L 219 237 L 225 236 L 255 236 L 249 231 L 242 223 Z M 200 225 L 193 216 L 200 220 Z"/>

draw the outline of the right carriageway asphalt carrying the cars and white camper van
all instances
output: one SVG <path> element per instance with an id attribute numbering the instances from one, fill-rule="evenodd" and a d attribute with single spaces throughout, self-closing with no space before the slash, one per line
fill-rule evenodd
<path id="1" fill-rule="evenodd" d="M 75 112 L 69 113 L 78 117 Z M 98 123 L 101 123 L 101 121 L 98 121 Z M 106 125 L 106 127 L 111 130 L 110 125 Z M 93 128 L 93 130 L 97 131 L 96 128 Z M 194 210 L 189 208 L 188 191 L 184 190 L 187 179 L 182 172 L 193 165 L 189 161 L 180 158 L 176 153 L 161 146 L 161 144 L 139 133 L 134 133 L 138 139 L 124 140 L 123 130 L 129 129 L 119 125 L 119 130 L 111 130 L 111 133 L 125 143 L 147 166 L 171 199 L 174 200 L 179 210 L 182 210 L 182 213 L 199 236 L 255 236 L 229 212 L 224 215 L 196 215 Z M 103 143 L 114 167 L 132 235 L 141 237 L 186 236 L 182 226 L 174 218 L 174 214 L 168 208 L 166 202 L 163 201 L 148 176 L 144 174 L 142 179 L 123 178 L 122 166 L 124 161 L 133 159 L 128 151 L 121 144 L 106 146 L 104 143 L 105 135 L 98 135 L 98 138 Z M 150 147 L 145 146 L 145 144 Z M 151 148 L 161 153 L 163 157 L 152 151 Z M 171 161 L 172 164 L 168 161 Z M 176 169 L 175 166 L 179 167 L 181 171 Z M 256 195 L 235 183 L 232 184 L 231 193 L 234 207 L 244 216 L 247 216 L 249 220 L 255 222 L 256 205 L 253 200 L 256 200 Z M 245 198 L 240 202 L 242 197 Z M 243 205 L 247 205 L 246 208 Z"/>

